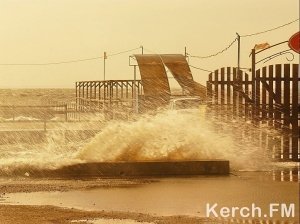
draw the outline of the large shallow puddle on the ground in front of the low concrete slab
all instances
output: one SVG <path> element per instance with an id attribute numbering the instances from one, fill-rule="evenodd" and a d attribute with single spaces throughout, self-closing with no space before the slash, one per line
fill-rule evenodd
<path id="1" fill-rule="evenodd" d="M 276 182 L 258 172 L 242 176 L 169 178 L 135 188 L 101 188 L 69 192 L 8 194 L 7 203 L 54 205 L 83 210 L 206 216 L 207 203 L 218 208 L 251 207 L 269 212 L 270 203 L 295 203 L 299 217 L 297 182 Z M 274 218 L 280 218 L 275 214 Z"/>

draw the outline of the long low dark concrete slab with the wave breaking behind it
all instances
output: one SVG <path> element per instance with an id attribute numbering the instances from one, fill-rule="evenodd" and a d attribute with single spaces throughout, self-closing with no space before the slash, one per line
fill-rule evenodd
<path id="1" fill-rule="evenodd" d="M 137 176 L 189 176 L 227 175 L 229 161 L 147 161 L 147 162 L 101 162 L 65 166 L 57 170 L 35 170 L 32 177 L 137 177 Z"/>

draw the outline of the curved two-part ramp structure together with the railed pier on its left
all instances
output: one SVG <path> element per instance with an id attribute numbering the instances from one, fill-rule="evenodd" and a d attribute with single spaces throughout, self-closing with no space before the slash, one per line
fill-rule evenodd
<path id="1" fill-rule="evenodd" d="M 169 104 L 171 90 L 166 67 L 184 89 L 184 94 L 206 98 L 206 87 L 194 81 L 181 54 L 136 54 L 141 80 L 76 82 L 76 111 L 110 113 L 155 110 Z M 123 117 L 123 115 L 121 116 Z M 127 117 L 127 115 L 126 115 Z"/>

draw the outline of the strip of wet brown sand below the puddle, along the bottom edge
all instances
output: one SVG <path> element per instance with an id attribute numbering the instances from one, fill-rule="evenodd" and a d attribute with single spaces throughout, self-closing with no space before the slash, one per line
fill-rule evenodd
<path id="1" fill-rule="evenodd" d="M 82 211 L 76 209 L 64 209 L 54 206 L 24 206 L 24 205 L 0 205 L 1 224 L 44 224 L 56 223 L 67 224 L 91 223 L 93 219 L 131 219 L 138 222 L 148 222 L 157 224 L 185 224 L 185 223 L 218 223 L 205 218 L 195 218 L 187 216 L 159 217 L 141 213 L 129 212 L 105 212 L 105 211 Z"/>

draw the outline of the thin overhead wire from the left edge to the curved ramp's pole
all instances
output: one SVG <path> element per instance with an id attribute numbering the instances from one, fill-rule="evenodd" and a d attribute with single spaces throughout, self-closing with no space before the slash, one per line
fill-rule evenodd
<path id="1" fill-rule="evenodd" d="M 140 49 L 141 47 L 133 48 L 126 51 L 120 51 L 113 54 L 108 54 L 107 57 L 113 57 L 116 55 L 124 54 L 127 52 L 131 52 L 137 49 Z M 60 64 L 70 64 L 70 63 L 76 63 L 76 62 L 84 62 L 84 61 L 92 61 L 92 60 L 98 60 L 104 58 L 104 56 L 98 56 L 93 58 L 84 58 L 84 59 L 77 59 L 77 60 L 69 60 L 69 61 L 59 61 L 59 62 L 48 62 L 48 63 L 0 63 L 0 66 L 43 66 L 43 65 L 60 65 Z"/>

